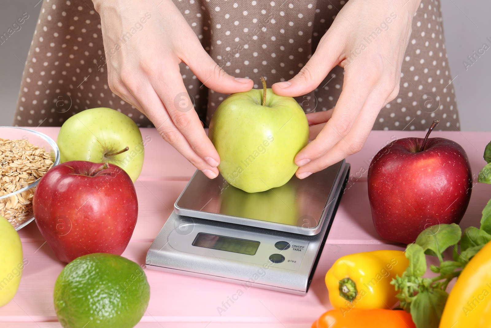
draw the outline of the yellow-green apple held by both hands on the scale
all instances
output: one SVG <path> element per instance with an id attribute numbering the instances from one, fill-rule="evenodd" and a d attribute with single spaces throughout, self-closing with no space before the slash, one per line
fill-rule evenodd
<path id="1" fill-rule="evenodd" d="M 246 192 L 265 191 L 288 182 L 298 166 L 295 155 L 308 143 L 305 113 L 292 97 L 272 89 L 229 95 L 218 106 L 209 137 L 220 156 L 218 170 Z"/>

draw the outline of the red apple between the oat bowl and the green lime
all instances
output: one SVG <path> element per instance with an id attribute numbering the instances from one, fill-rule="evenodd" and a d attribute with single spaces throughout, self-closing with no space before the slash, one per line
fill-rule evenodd
<path id="1" fill-rule="evenodd" d="M 66 263 L 91 253 L 121 255 L 138 215 L 130 176 L 110 163 L 53 167 L 39 181 L 32 205 L 39 231 Z"/>

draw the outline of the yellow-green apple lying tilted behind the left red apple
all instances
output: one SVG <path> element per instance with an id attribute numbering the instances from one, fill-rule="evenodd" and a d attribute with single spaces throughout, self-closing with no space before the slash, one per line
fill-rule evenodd
<path id="1" fill-rule="evenodd" d="M 67 119 L 56 140 L 60 161 L 112 163 L 136 181 L 143 167 L 143 141 L 133 119 L 110 108 L 84 110 Z"/>

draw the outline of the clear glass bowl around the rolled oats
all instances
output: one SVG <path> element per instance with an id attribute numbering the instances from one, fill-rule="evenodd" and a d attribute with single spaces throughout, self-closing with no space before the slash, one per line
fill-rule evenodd
<path id="1" fill-rule="evenodd" d="M 24 127 L 0 126 L 0 138 L 9 140 L 24 139 L 33 146 L 45 149 L 51 155 L 53 166 L 60 163 L 60 152 L 55 141 L 44 133 L 27 129 Z M 38 178 L 31 184 L 22 189 L 16 190 L 9 194 L 0 196 L 0 215 L 7 216 L 6 219 L 14 226 L 15 230 L 25 227 L 34 220 L 32 213 L 32 196 L 36 189 Z M 0 183 L 3 181 L 0 180 Z M 7 211 L 8 210 L 8 211 Z M 21 216 L 21 219 L 16 220 L 11 213 Z"/>

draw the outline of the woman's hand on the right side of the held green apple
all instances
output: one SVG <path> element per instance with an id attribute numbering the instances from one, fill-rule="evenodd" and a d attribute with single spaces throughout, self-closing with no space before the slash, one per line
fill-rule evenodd
<path id="1" fill-rule="evenodd" d="M 306 178 L 363 147 L 380 110 L 399 93 L 401 66 L 420 1 L 349 0 L 300 72 L 273 85 L 276 94 L 299 96 L 317 88 L 335 65 L 345 69 L 336 106 L 307 114 L 315 140 L 295 157 L 300 166 L 297 177 Z"/>

